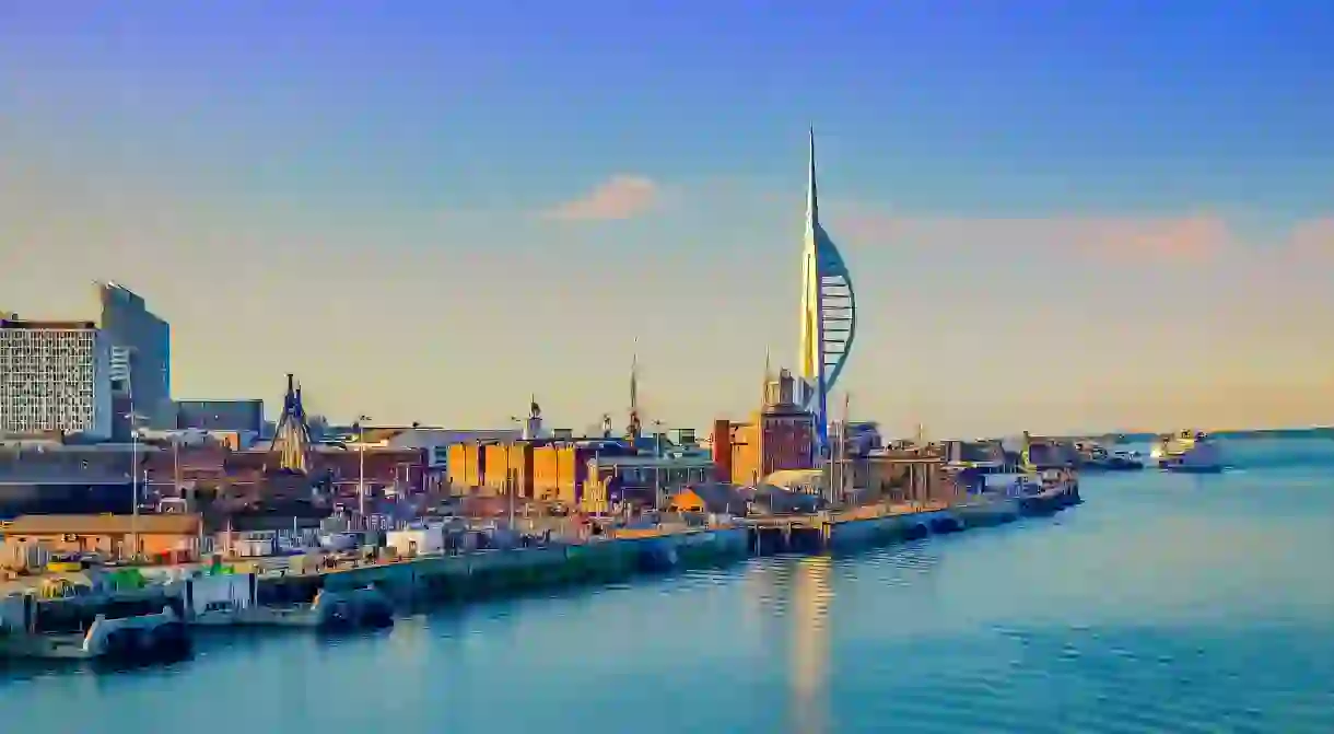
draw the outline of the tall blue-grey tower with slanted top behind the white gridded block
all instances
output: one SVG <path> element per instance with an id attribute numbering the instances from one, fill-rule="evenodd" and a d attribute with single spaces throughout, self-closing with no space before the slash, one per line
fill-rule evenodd
<path id="1" fill-rule="evenodd" d="M 97 283 L 97 326 L 115 358 L 117 415 L 133 403 L 135 427 L 173 428 L 171 403 L 171 327 L 148 310 L 143 296 L 112 283 Z M 124 406 L 125 410 L 119 410 Z"/>

